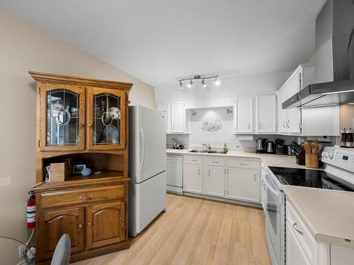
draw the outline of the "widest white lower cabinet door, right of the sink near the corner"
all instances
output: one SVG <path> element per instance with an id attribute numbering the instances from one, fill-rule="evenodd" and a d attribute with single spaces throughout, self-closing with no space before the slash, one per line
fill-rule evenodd
<path id="1" fill-rule="evenodd" d="M 240 201 L 260 202 L 259 170 L 232 168 L 228 170 L 227 197 Z"/>

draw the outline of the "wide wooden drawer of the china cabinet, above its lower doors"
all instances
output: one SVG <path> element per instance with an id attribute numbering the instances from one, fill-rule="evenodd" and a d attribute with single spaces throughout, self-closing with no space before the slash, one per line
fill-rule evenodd
<path id="1" fill-rule="evenodd" d="M 40 194 L 42 208 L 124 198 L 125 185 L 71 189 L 58 192 L 43 192 Z"/>

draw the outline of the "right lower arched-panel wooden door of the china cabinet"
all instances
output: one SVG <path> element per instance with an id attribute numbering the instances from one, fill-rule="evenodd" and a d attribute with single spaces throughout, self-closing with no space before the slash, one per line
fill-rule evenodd
<path id="1" fill-rule="evenodd" d="M 125 202 L 86 207 L 86 248 L 103 247 L 125 240 Z"/>

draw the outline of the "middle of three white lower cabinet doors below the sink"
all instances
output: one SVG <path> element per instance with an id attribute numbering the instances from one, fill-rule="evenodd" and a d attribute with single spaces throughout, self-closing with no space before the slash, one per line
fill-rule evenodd
<path id="1" fill-rule="evenodd" d="M 225 195 L 225 167 L 204 167 L 203 194 L 219 197 Z"/>

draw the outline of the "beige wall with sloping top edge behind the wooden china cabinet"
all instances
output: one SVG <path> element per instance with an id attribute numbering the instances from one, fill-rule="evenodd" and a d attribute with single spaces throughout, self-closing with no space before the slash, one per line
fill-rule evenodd
<path id="1" fill-rule="evenodd" d="M 0 9 L 0 235 L 28 239 L 25 199 L 35 183 L 35 81 L 29 70 L 134 83 L 132 104 L 154 107 L 154 88 Z M 104 40 L 103 40 L 104 41 Z M 0 264 L 18 262 L 0 238 Z"/>

